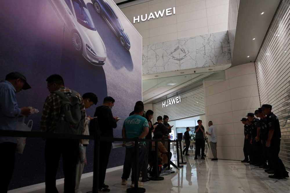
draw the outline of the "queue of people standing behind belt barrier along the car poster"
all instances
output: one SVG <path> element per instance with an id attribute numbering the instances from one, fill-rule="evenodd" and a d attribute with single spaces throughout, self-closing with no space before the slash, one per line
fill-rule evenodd
<path id="1" fill-rule="evenodd" d="M 65 86 L 63 78 L 58 74 L 53 74 L 46 79 L 47 89 L 50 92 L 44 101 L 44 107 L 41 115 L 41 132 L 64 133 L 64 134 L 83 134 L 90 135 L 99 132 L 100 136 L 113 138 L 113 129 L 117 128 L 119 118 L 113 116 L 112 108 L 115 99 L 105 97 L 103 105 L 96 108 L 94 117 L 87 116 L 86 110 L 92 105 L 98 103 L 98 97 L 94 93 L 85 93 L 81 96 L 79 93 L 70 90 Z M 21 90 L 30 89 L 26 77 L 19 72 L 7 74 L 5 80 L 0 81 L 0 129 L 16 130 L 18 118 L 29 116 L 30 108 L 19 108 L 16 101 L 16 93 Z M 157 118 L 157 122 L 152 124 L 153 111 L 144 112 L 144 104 L 137 101 L 134 111 L 124 121 L 122 129 L 123 138 L 152 139 L 152 133 L 165 139 L 171 132 L 172 126 L 168 124 L 168 116 Z M 90 133 L 91 132 L 91 133 Z M 159 139 L 159 138 L 158 138 Z M 79 190 L 81 174 L 84 170 L 85 162 L 79 159 L 79 148 L 82 146 L 83 154 L 86 153 L 86 147 L 89 140 L 77 139 L 45 139 L 45 185 L 46 192 L 58 192 L 56 188 L 56 175 L 60 157 L 62 156 L 64 171 L 64 192 L 81 193 Z M 142 182 L 149 181 L 148 164 L 150 162 L 151 152 L 155 150 L 155 144 L 140 142 L 139 144 L 139 173 L 142 170 Z M 162 154 L 168 154 L 167 145 L 162 143 L 158 148 L 162 149 Z M 0 137 L 0 154 L 6 155 L 0 157 L 1 167 L 0 192 L 7 192 L 11 181 L 15 165 L 15 150 L 17 146 L 17 137 Z M 124 142 L 123 146 L 126 146 Z M 127 179 L 132 172 L 134 173 L 133 157 L 135 156 L 133 145 L 126 146 L 126 155 L 124 160 L 124 169 L 122 175 L 122 185 L 127 183 Z M 99 160 L 99 187 L 98 192 L 110 192 L 108 185 L 104 183 L 106 168 L 109 161 L 112 142 L 102 141 L 100 143 Z M 169 151 L 170 152 L 170 151 Z M 160 154 L 160 156 L 165 156 Z M 167 163 L 167 159 L 163 160 Z M 134 187 L 134 175 L 131 177 L 132 187 Z M 138 179 L 136 179 L 138 180 Z"/>

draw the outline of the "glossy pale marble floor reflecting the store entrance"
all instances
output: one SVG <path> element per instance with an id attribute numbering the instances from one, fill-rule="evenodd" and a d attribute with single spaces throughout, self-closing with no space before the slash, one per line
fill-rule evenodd
<path id="1" fill-rule="evenodd" d="M 211 161 L 206 158 L 197 160 L 193 158 L 193 150 L 190 156 L 183 156 L 186 164 L 180 171 L 164 176 L 163 181 L 149 181 L 144 183 L 146 192 L 180 193 L 180 192 L 215 192 L 215 193 L 244 193 L 244 192 L 290 192 L 290 179 L 270 179 L 264 170 L 240 161 L 218 160 Z M 176 151 L 172 160 L 176 162 Z M 174 161 L 173 161 L 174 162 Z M 108 172 L 105 183 L 109 185 L 111 192 L 126 192 L 131 185 L 121 185 L 122 170 Z M 85 193 L 91 191 L 93 177 L 81 180 L 80 190 Z M 59 192 L 63 192 L 63 184 L 57 185 Z M 37 190 L 34 193 L 45 192 Z"/>

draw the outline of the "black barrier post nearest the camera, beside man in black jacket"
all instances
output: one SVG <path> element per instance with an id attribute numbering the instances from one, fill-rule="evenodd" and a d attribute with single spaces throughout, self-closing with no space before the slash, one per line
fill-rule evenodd
<path id="1" fill-rule="evenodd" d="M 100 135 L 97 134 L 97 132 L 95 132 L 93 193 L 99 192 L 99 154 L 100 154 Z"/>

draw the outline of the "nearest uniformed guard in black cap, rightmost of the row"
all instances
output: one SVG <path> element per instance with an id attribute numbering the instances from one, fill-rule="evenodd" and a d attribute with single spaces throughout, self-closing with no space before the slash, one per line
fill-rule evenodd
<path id="1" fill-rule="evenodd" d="M 281 130 L 278 117 L 271 112 L 272 106 L 265 104 L 261 107 L 262 113 L 267 115 L 265 117 L 265 131 L 266 146 L 268 151 L 268 157 L 275 170 L 274 175 L 270 175 L 269 178 L 283 179 L 289 178 L 289 174 L 285 169 L 282 160 L 279 158 L 280 152 L 280 138 Z M 269 132 L 268 132 L 269 131 Z"/>

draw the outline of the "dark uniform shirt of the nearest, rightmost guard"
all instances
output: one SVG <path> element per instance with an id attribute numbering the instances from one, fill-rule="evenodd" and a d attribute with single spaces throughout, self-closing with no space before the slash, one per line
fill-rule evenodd
<path id="1" fill-rule="evenodd" d="M 267 130 L 265 130 L 266 139 L 268 139 L 269 130 L 274 129 L 273 137 L 271 140 L 280 140 L 281 138 L 281 130 L 280 130 L 280 123 L 278 117 L 271 113 L 265 117 L 265 126 L 267 126 Z"/>

